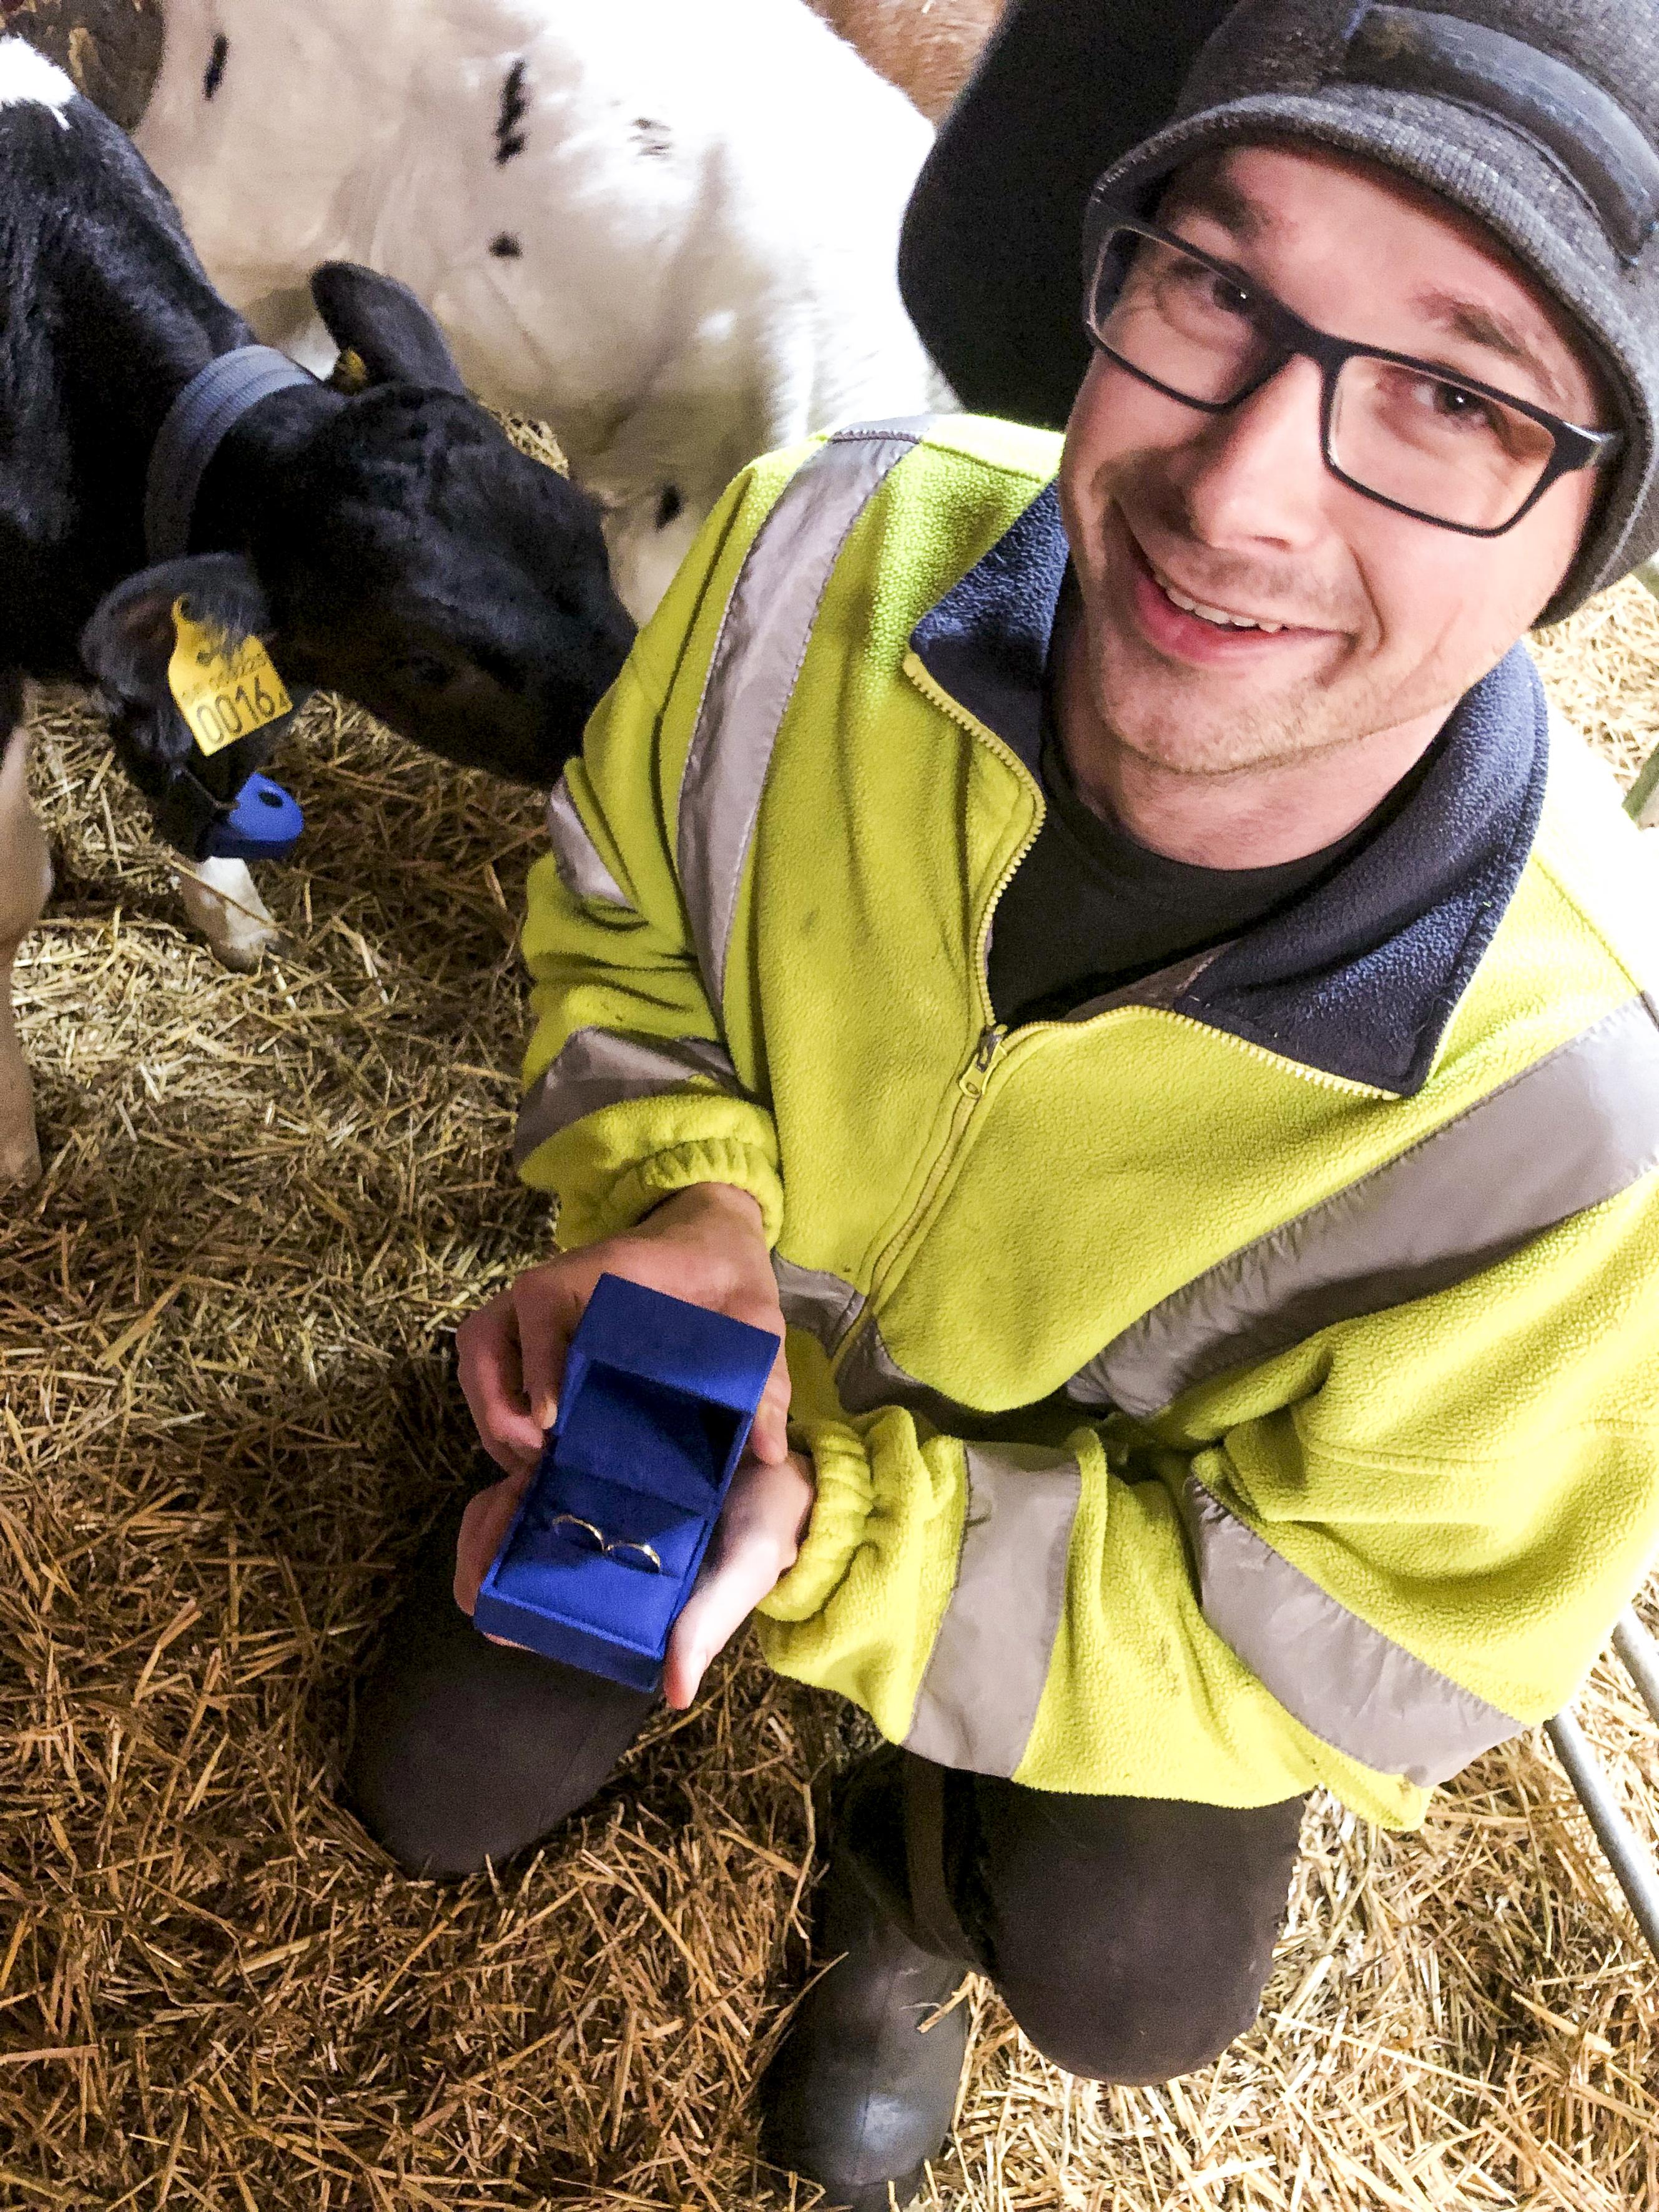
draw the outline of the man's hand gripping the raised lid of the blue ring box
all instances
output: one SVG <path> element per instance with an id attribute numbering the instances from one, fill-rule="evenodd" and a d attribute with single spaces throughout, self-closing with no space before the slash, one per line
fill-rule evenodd
<path id="1" fill-rule="evenodd" d="M 666 1290 L 783 1338 L 761 1208 L 730 1183 L 677 1190 L 622 1237 L 531 1267 L 456 1329 L 460 1387 L 484 1451 L 509 1475 L 526 1478 L 542 1455 L 560 1405 L 564 1354 L 602 1274 Z M 783 1460 L 787 1418 L 790 1369 L 779 1352 L 750 1429 L 750 1453 L 761 1464 Z"/>

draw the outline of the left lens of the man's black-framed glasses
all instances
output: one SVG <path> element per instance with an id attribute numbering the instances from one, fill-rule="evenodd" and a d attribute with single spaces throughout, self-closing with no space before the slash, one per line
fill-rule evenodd
<path id="1" fill-rule="evenodd" d="M 1124 367 L 1166 392 L 1225 407 L 1267 365 L 1256 296 L 1139 230 L 1113 230 L 1088 301 L 1088 330 Z"/>

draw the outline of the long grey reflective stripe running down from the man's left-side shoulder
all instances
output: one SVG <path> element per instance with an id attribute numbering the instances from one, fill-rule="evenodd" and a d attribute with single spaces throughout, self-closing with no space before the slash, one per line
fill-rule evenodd
<path id="1" fill-rule="evenodd" d="M 927 420 L 845 429 L 821 445 L 779 493 L 726 602 L 679 783 L 677 830 L 679 887 L 717 1011 L 765 772 L 830 573 L 872 493 L 922 438 Z"/>

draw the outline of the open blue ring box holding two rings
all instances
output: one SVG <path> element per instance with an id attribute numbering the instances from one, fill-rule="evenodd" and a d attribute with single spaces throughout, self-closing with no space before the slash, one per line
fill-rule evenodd
<path id="1" fill-rule="evenodd" d="M 655 1690 L 776 1354 L 765 1329 L 602 1274 L 473 1628 Z"/>

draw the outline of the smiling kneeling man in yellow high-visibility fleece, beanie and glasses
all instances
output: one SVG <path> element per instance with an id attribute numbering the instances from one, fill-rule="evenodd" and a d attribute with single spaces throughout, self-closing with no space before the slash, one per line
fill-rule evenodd
<path id="1" fill-rule="evenodd" d="M 1648 896 L 1517 646 L 1659 540 L 1655 139 L 1646 0 L 1248 0 L 1095 192 L 1064 451 L 759 462 L 553 799 L 456 1593 L 602 1270 L 787 1321 L 666 1694 L 759 1608 L 894 1745 L 763 2084 L 830 2203 L 938 2152 L 962 1964 L 1210 2059 L 1305 1794 L 1416 1823 L 1659 1542 Z M 354 1792 L 476 1865 L 644 1712 L 416 1599 Z"/>

